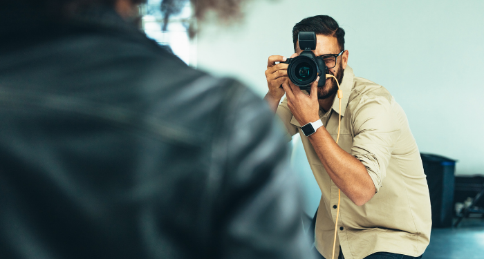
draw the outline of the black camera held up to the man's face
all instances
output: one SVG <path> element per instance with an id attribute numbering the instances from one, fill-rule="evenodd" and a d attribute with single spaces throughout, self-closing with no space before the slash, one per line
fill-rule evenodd
<path id="1" fill-rule="evenodd" d="M 299 42 L 299 48 L 303 52 L 297 57 L 281 62 L 289 64 L 288 77 L 290 81 L 301 89 L 307 90 L 319 76 L 317 86 L 324 86 L 328 67 L 326 67 L 321 57 L 316 57 L 313 51 L 311 51 L 316 49 L 315 32 L 299 32 L 297 41 Z"/>

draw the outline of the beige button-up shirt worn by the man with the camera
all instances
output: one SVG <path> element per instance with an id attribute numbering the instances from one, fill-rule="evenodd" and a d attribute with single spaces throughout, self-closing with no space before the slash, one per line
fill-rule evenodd
<path id="1" fill-rule="evenodd" d="M 361 259 L 378 251 L 420 256 L 430 240 L 431 211 L 422 160 L 407 116 L 389 91 L 355 77 L 346 66 L 341 84 L 342 120 L 339 146 L 366 166 L 377 193 L 361 207 L 341 193 L 335 256 Z M 339 99 L 327 113 L 319 111 L 326 130 L 336 140 Z M 292 116 L 287 99 L 277 115 L 288 137 L 299 133 L 308 162 L 322 192 L 317 213 L 315 244 L 331 258 L 338 188 L 329 178 L 308 137 Z M 321 128 L 324 130 L 324 128 Z"/>

